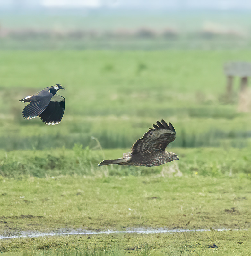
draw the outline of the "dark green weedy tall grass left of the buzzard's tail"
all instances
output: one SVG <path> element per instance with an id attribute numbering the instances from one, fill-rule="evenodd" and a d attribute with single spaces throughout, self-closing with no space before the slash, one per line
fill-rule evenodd
<path id="1" fill-rule="evenodd" d="M 0 159 L 0 174 L 3 177 L 91 175 L 100 159 L 100 151 L 83 148 L 80 144 L 75 144 L 72 150 L 27 151 L 22 156 L 12 151 Z"/>

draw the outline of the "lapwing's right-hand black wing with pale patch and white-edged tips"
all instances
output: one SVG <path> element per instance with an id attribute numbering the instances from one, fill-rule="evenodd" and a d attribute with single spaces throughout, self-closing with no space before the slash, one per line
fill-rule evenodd
<path id="1" fill-rule="evenodd" d="M 55 94 L 46 109 L 39 115 L 41 120 L 48 125 L 59 124 L 65 111 L 65 98 Z"/>

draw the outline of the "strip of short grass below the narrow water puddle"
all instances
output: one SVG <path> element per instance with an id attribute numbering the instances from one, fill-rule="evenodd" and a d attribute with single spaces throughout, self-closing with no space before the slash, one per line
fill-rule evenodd
<path id="1" fill-rule="evenodd" d="M 249 255 L 248 231 L 193 232 L 151 235 L 86 235 L 5 240 L 1 256 L 209 256 Z M 218 248 L 208 248 L 216 244 Z M 30 251 L 26 251 L 27 248 Z M 76 250 L 76 248 L 78 248 Z M 9 253 L 8 253 L 9 251 Z"/>

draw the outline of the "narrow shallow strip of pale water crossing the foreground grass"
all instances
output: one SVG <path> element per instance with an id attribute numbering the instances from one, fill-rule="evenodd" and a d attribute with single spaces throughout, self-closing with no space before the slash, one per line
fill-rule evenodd
<path id="1" fill-rule="evenodd" d="M 227 228 L 216 228 L 213 229 L 215 231 L 229 231 L 233 229 Z M 238 229 L 235 229 L 238 230 Z M 38 231 L 20 231 L 13 234 L 0 235 L 0 239 L 5 238 L 29 238 L 29 237 L 40 237 L 40 236 L 64 236 L 64 235 L 93 235 L 93 234 L 154 234 L 154 233 L 180 233 L 180 232 L 203 232 L 203 231 L 211 231 L 211 229 L 151 229 L 151 228 L 135 228 L 135 229 L 127 229 L 127 230 L 106 230 L 106 231 L 94 231 L 94 230 L 83 230 L 83 229 L 75 229 L 75 230 L 66 230 L 61 229 L 56 232 L 52 231 L 50 233 L 41 233 Z"/>

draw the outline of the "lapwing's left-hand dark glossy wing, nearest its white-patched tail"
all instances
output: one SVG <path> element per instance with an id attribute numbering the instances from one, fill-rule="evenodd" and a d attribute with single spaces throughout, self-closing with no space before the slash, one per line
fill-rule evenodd
<path id="1" fill-rule="evenodd" d="M 42 90 L 31 96 L 30 104 L 25 106 L 23 109 L 23 117 L 26 119 L 31 119 L 39 116 L 48 106 L 53 94 L 49 92 L 49 89 Z"/>

